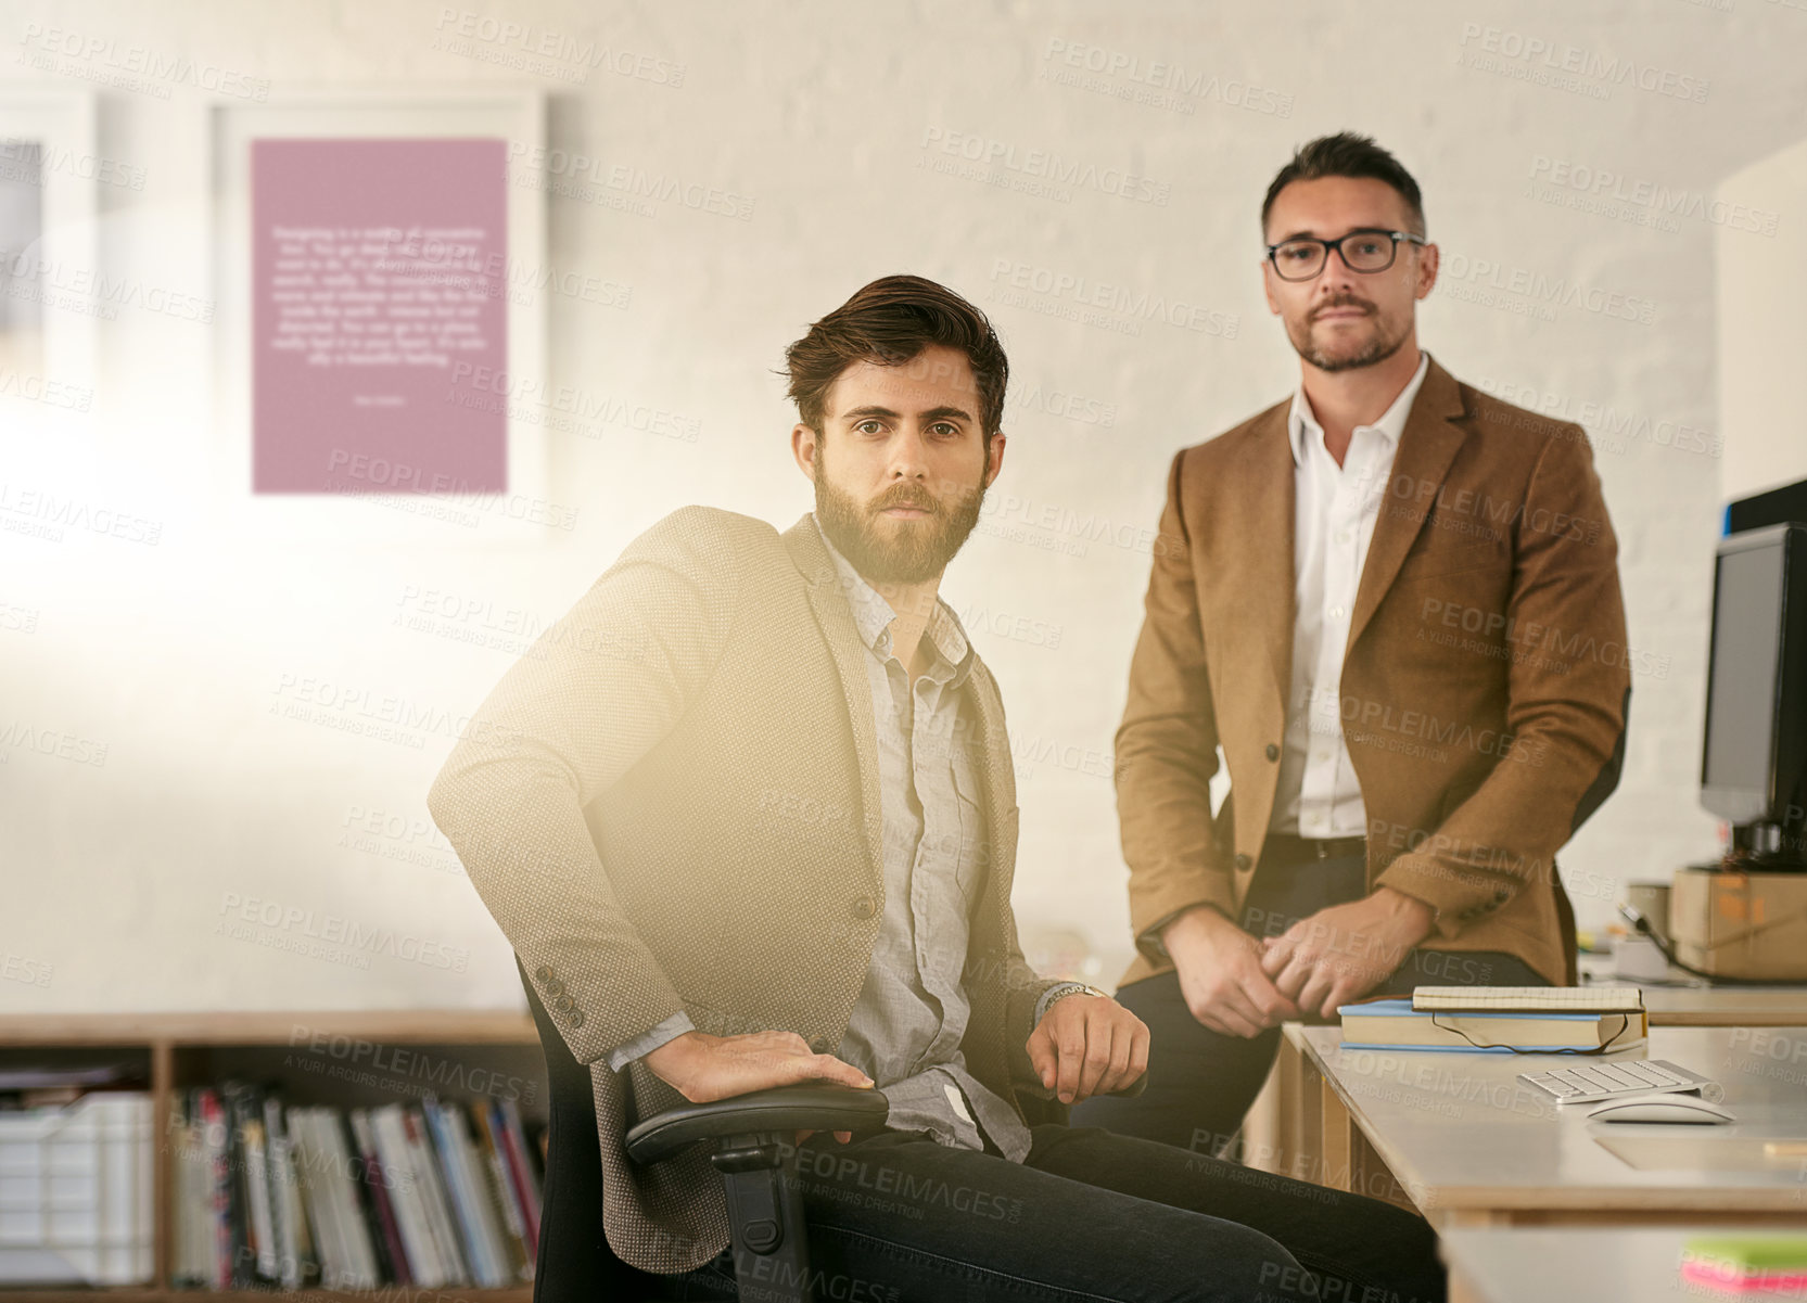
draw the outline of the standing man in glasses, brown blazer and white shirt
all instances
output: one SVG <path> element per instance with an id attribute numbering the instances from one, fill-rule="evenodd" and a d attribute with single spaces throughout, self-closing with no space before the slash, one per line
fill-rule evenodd
<path id="1" fill-rule="evenodd" d="M 1556 853 L 1619 781 L 1632 692 L 1585 432 L 1418 349 L 1437 246 L 1411 175 L 1323 137 L 1261 224 L 1301 381 L 1167 475 L 1117 732 L 1119 999 L 1156 1050 L 1137 1099 L 1075 1111 L 1203 1151 L 1285 1019 L 1576 980 Z"/>

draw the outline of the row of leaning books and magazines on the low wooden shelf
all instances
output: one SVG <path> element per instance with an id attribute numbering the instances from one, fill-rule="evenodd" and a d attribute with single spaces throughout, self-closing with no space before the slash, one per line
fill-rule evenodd
<path id="1" fill-rule="evenodd" d="M 228 1081 L 183 1092 L 170 1126 L 181 1287 L 533 1280 L 544 1142 L 513 1101 L 340 1110 Z"/>

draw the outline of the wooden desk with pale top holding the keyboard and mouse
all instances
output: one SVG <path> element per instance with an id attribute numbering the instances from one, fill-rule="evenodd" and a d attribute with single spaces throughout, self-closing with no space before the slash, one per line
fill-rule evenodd
<path id="1" fill-rule="evenodd" d="M 1760 1144 L 1807 1139 L 1807 1026 L 1657 1026 L 1648 1050 L 1610 1055 L 1718 1081 L 1738 1120 L 1713 1128 L 1590 1122 L 1516 1081 L 1568 1055 L 1344 1050 L 1341 1028 L 1297 1023 L 1285 1037 L 1303 1139 L 1281 1169 L 1417 1207 L 1438 1229 L 1807 1222 L 1807 1160 L 1765 1160 Z M 1729 1157 L 1744 1166 L 1709 1166 Z"/>

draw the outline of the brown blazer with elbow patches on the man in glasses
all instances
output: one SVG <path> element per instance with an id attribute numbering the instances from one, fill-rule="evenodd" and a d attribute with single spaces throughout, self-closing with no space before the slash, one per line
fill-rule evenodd
<path id="1" fill-rule="evenodd" d="M 1274 810 L 1294 627 L 1288 401 L 1175 459 L 1117 730 L 1137 960 L 1191 905 L 1240 916 Z M 1617 786 L 1632 699 L 1617 540 L 1579 425 L 1431 360 L 1362 567 L 1341 717 L 1368 884 L 1437 911 L 1420 945 L 1576 980 L 1556 851 Z M 1231 775 L 1212 817 L 1218 748 Z"/>

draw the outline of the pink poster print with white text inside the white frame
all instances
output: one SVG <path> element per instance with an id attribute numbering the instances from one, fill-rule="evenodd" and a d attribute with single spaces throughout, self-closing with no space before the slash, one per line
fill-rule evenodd
<path id="1" fill-rule="evenodd" d="M 251 143 L 255 493 L 508 490 L 504 403 L 448 401 L 508 369 L 506 224 L 501 139 Z"/>

